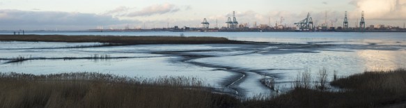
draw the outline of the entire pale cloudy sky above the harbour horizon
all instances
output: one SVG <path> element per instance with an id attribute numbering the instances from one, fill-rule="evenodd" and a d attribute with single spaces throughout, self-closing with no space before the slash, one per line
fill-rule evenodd
<path id="1" fill-rule="evenodd" d="M 0 0 L 0 30 L 199 27 L 203 18 L 221 27 L 233 11 L 240 24 L 249 26 L 294 26 L 308 13 L 315 24 L 342 26 L 345 11 L 350 26 L 362 11 L 367 25 L 403 27 L 406 22 L 406 0 Z"/>

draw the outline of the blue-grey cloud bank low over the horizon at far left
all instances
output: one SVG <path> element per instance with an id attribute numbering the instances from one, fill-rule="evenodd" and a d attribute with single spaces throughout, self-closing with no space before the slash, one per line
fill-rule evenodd
<path id="1" fill-rule="evenodd" d="M 94 29 L 96 26 L 137 23 L 111 15 L 55 11 L 0 10 L 0 29 Z"/>

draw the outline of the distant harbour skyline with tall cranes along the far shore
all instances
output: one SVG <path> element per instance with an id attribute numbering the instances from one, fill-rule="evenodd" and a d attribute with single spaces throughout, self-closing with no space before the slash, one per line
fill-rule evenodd
<path id="1" fill-rule="evenodd" d="M 352 24 L 354 24 L 353 27 L 350 27 L 350 22 L 348 20 L 348 11 L 345 11 L 344 17 L 343 17 L 343 25 L 342 26 L 337 26 L 331 21 L 331 25 L 329 26 L 329 22 L 327 22 L 327 11 L 325 12 L 325 20 L 324 23 L 320 22 L 319 25 L 315 25 L 315 22 L 313 22 L 313 18 L 311 17 L 311 14 L 308 13 L 307 16 L 303 19 L 300 20 L 299 22 L 295 22 L 295 26 L 286 26 L 286 24 L 283 26 L 283 17 L 281 17 L 281 20 L 275 20 L 275 26 L 271 26 L 271 17 L 269 18 L 269 24 L 259 24 L 260 26 L 257 26 L 257 22 L 254 22 L 253 25 L 250 26 L 249 23 L 242 23 L 240 25 L 239 22 L 237 22 L 237 17 L 235 17 L 235 11 L 233 11 L 233 15 L 231 16 L 230 14 L 228 15 L 228 19 L 226 21 L 226 26 L 221 26 L 219 27 L 218 25 L 218 20 L 216 19 L 215 21 L 215 26 L 212 26 L 210 28 L 210 23 L 206 18 L 203 18 L 203 22 L 201 22 L 202 26 L 196 26 L 196 28 L 192 27 L 187 27 L 181 29 L 178 27 L 175 27 L 173 29 L 169 29 L 169 31 L 209 31 L 209 32 L 269 32 L 269 31 L 338 31 L 338 32 L 406 32 L 406 23 L 403 24 L 403 28 L 400 26 L 382 26 L 380 28 L 376 28 L 373 25 L 371 26 L 366 26 L 366 21 L 365 21 L 365 14 L 364 11 L 361 13 L 361 20 L 357 18 Z M 279 22 L 280 21 L 280 22 Z M 337 21 L 337 19 L 336 19 Z M 382 24 L 383 25 L 383 24 Z M 168 25 L 169 26 L 169 25 Z M 379 25 L 381 26 L 381 25 Z M 169 27 L 168 27 L 169 28 Z M 166 29 L 153 29 L 153 31 L 159 31 L 159 30 L 166 30 Z M 17 32 L 16 32 L 17 34 Z"/>

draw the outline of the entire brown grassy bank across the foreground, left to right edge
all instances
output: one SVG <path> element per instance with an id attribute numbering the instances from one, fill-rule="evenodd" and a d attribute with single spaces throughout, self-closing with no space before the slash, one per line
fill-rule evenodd
<path id="1" fill-rule="evenodd" d="M 288 93 L 239 100 L 212 93 L 196 78 L 2 73 L 0 107 L 387 107 L 406 102 L 403 69 L 364 72 L 331 82 L 343 91 L 309 84 L 322 81 L 310 77 L 309 73 L 302 74 Z"/>

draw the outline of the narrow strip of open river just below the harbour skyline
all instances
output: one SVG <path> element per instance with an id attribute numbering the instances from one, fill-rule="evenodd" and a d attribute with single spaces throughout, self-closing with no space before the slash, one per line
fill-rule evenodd
<path id="1" fill-rule="evenodd" d="M 406 33 L 346 33 L 346 32 L 170 32 L 170 31 L 146 31 L 146 32 L 125 32 L 125 31 L 25 31 L 25 34 L 38 35 L 90 35 L 90 36 L 214 36 L 225 37 L 232 40 L 249 40 L 260 42 L 278 42 L 278 43 L 308 43 L 308 42 L 380 42 L 405 41 Z M 13 34 L 13 31 L 0 31 L 0 34 Z M 378 41 L 377 41 L 378 40 Z"/>

